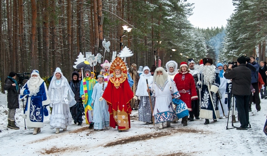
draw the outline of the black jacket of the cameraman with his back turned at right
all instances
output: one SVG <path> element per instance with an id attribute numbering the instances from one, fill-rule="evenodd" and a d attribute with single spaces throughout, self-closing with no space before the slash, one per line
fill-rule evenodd
<path id="1" fill-rule="evenodd" d="M 239 64 L 236 68 L 226 69 L 224 75 L 226 79 L 232 79 L 233 95 L 250 95 L 251 70 L 246 64 Z"/>

